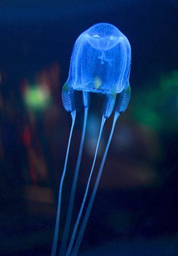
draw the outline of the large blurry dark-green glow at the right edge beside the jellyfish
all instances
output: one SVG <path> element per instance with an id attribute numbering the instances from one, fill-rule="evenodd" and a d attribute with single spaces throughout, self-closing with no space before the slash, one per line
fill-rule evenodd
<path id="1" fill-rule="evenodd" d="M 133 116 L 139 124 L 158 131 L 176 132 L 178 70 L 150 81 L 145 89 L 133 95 Z"/>

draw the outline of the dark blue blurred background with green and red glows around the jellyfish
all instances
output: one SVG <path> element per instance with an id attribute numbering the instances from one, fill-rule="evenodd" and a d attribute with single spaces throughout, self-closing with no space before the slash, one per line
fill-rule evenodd
<path id="1" fill-rule="evenodd" d="M 75 40 L 98 22 L 112 23 L 131 43 L 132 97 L 117 122 L 80 255 L 178 255 L 177 17 L 176 0 L 1 0 L 1 255 L 50 255 L 71 125 L 61 90 Z M 91 97 L 73 225 L 93 160 L 102 101 Z M 81 110 L 63 188 L 62 227 L 82 117 Z M 111 125 L 112 117 L 94 177 Z"/>

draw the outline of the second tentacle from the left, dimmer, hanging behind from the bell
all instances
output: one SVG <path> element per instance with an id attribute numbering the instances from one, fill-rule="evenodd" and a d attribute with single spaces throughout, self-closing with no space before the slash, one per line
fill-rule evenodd
<path id="1" fill-rule="evenodd" d="M 81 142 L 80 142 L 80 149 L 78 151 L 78 158 L 77 158 L 77 165 L 75 167 L 75 172 L 74 172 L 74 179 L 72 182 L 71 195 L 69 198 L 69 207 L 68 207 L 68 212 L 67 212 L 67 216 L 66 216 L 65 229 L 63 232 L 61 248 L 59 251 L 60 256 L 65 255 L 66 244 L 68 241 L 69 228 L 71 225 L 72 210 L 73 210 L 73 206 L 74 206 L 75 190 L 76 190 L 76 186 L 77 186 L 78 171 L 80 169 L 82 150 L 83 150 L 83 146 L 84 146 L 84 138 L 85 138 L 86 125 L 87 125 L 87 116 L 88 116 L 88 108 L 84 108 L 84 123 L 83 123 L 83 128 L 82 128 L 82 137 L 81 137 Z"/>

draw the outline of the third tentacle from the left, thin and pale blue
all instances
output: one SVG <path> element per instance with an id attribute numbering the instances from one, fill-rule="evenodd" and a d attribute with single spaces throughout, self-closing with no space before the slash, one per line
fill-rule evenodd
<path id="1" fill-rule="evenodd" d="M 84 209 L 85 200 L 87 198 L 88 189 L 89 189 L 90 181 L 91 181 L 91 176 L 93 174 L 94 165 L 95 165 L 95 162 L 96 162 L 96 157 L 97 157 L 97 152 L 98 152 L 98 147 L 99 147 L 99 144 L 100 144 L 101 134 L 102 134 L 102 131 L 103 131 L 103 127 L 104 127 L 104 122 L 105 121 L 106 121 L 106 118 L 104 118 L 104 116 L 103 116 L 102 121 L 101 121 L 101 127 L 100 127 L 100 133 L 99 133 L 99 136 L 98 136 L 96 151 L 95 151 L 95 154 L 94 154 L 93 165 L 91 167 L 90 176 L 88 178 L 88 182 L 87 182 L 87 187 L 85 189 L 84 198 L 83 198 L 83 201 L 82 201 L 82 204 L 81 204 L 81 208 L 80 208 L 80 211 L 79 211 L 79 214 L 78 214 L 78 217 L 77 217 L 77 221 L 76 221 L 75 226 L 74 226 L 74 230 L 72 232 L 71 241 L 69 242 L 69 247 L 68 247 L 68 250 L 66 252 L 66 256 L 70 255 L 71 250 L 72 250 L 72 246 L 74 244 L 74 239 L 75 239 L 75 235 L 76 235 L 76 232 L 77 232 L 78 224 L 80 222 L 81 214 L 82 214 L 82 211 Z"/>

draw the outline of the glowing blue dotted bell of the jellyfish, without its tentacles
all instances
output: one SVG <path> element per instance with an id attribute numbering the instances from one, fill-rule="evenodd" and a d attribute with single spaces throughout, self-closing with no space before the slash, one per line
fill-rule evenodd
<path id="1" fill-rule="evenodd" d="M 128 87 L 131 46 L 115 26 L 101 23 L 75 42 L 68 85 L 94 93 L 120 93 Z"/>

